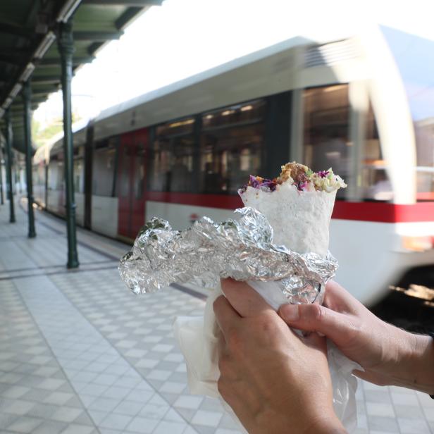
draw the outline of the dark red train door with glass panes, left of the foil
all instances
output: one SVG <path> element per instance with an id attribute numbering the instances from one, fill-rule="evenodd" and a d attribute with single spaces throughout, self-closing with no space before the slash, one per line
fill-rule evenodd
<path id="1" fill-rule="evenodd" d="M 134 239 L 144 224 L 147 130 L 120 139 L 118 164 L 118 235 Z"/>

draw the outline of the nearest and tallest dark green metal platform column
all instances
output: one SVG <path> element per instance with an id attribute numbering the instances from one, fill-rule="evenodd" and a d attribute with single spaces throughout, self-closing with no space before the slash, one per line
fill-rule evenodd
<path id="1" fill-rule="evenodd" d="M 71 113 L 71 80 L 73 78 L 73 24 L 59 23 L 58 52 L 61 55 L 63 93 L 63 153 L 65 155 L 66 225 L 68 228 L 68 268 L 77 268 L 77 235 L 75 228 L 74 152 Z"/>

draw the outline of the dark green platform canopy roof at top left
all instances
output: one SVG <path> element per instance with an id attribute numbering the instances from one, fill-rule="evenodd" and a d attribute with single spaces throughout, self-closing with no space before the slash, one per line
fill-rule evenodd
<path id="1" fill-rule="evenodd" d="M 25 152 L 23 82 L 32 75 L 32 109 L 61 83 L 56 44 L 58 23 L 73 17 L 73 70 L 92 62 L 96 52 L 151 6 L 163 0 L 0 1 L 0 123 L 9 108 L 13 147 Z"/>

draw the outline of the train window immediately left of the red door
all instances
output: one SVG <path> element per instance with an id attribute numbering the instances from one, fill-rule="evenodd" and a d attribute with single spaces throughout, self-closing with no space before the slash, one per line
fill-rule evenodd
<path id="1" fill-rule="evenodd" d="M 110 141 L 94 150 L 92 165 L 92 194 L 95 196 L 113 195 L 115 173 L 116 142 Z"/>

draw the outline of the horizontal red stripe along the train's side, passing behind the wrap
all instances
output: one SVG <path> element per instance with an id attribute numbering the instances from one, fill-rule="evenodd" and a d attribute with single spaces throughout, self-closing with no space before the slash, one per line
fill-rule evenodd
<path id="1" fill-rule="evenodd" d="M 147 200 L 211 208 L 235 209 L 242 206 L 237 195 L 147 192 Z M 385 202 L 344 202 L 337 200 L 332 218 L 382 223 L 434 221 L 434 202 L 414 205 Z"/>

